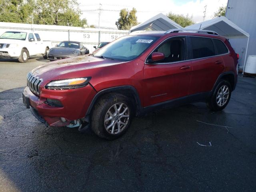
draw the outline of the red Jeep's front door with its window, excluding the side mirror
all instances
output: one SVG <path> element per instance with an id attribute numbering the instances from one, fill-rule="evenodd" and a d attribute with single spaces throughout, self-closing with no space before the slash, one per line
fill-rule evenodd
<path id="1" fill-rule="evenodd" d="M 188 94 L 192 68 L 187 60 L 186 36 L 168 38 L 153 52 L 162 52 L 165 59 L 144 66 L 144 106 L 150 106 Z"/>

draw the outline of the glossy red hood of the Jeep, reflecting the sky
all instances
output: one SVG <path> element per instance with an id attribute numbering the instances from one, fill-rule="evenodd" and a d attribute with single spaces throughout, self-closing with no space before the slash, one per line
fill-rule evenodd
<path id="1" fill-rule="evenodd" d="M 42 78 L 45 83 L 51 80 L 91 76 L 90 69 L 102 68 L 123 63 L 117 60 L 102 59 L 93 56 L 78 56 L 74 58 L 48 62 L 32 70 L 32 73 Z"/>

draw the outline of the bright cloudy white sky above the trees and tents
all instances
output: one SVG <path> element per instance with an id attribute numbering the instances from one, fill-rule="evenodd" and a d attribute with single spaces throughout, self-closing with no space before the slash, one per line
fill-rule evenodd
<path id="1" fill-rule="evenodd" d="M 172 12 L 175 14 L 183 14 L 192 16 L 195 23 L 202 22 L 204 16 L 204 6 L 206 6 L 205 20 L 212 19 L 214 12 L 220 6 L 226 6 L 228 0 L 78 0 L 79 8 L 86 18 L 88 25 L 98 26 L 98 13 L 100 4 L 102 4 L 100 14 L 100 26 L 116 28 L 115 22 L 119 18 L 119 12 L 122 8 L 131 10 L 133 7 L 137 10 L 138 22 L 144 22 L 156 14 L 167 14 Z"/>

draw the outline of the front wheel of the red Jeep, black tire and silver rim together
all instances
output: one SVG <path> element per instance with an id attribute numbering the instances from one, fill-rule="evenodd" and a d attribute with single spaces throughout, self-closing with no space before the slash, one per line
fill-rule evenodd
<path id="1" fill-rule="evenodd" d="M 116 112 L 117 115 L 115 115 Z M 110 114 L 113 116 L 110 116 Z M 132 115 L 132 102 L 127 97 L 117 93 L 107 94 L 102 96 L 94 105 L 91 116 L 91 129 L 101 138 L 117 139 L 130 127 Z M 105 122 L 105 120 L 107 121 Z"/>

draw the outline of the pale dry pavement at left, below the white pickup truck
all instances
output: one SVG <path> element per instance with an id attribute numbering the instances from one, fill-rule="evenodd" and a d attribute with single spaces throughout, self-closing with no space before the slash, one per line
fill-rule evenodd
<path id="1" fill-rule="evenodd" d="M 0 92 L 26 86 L 28 72 L 46 62 L 49 61 L 42 56 L 33 56 L 26 63 L 19 63 L 17 59 L 0 58 Z"/>

